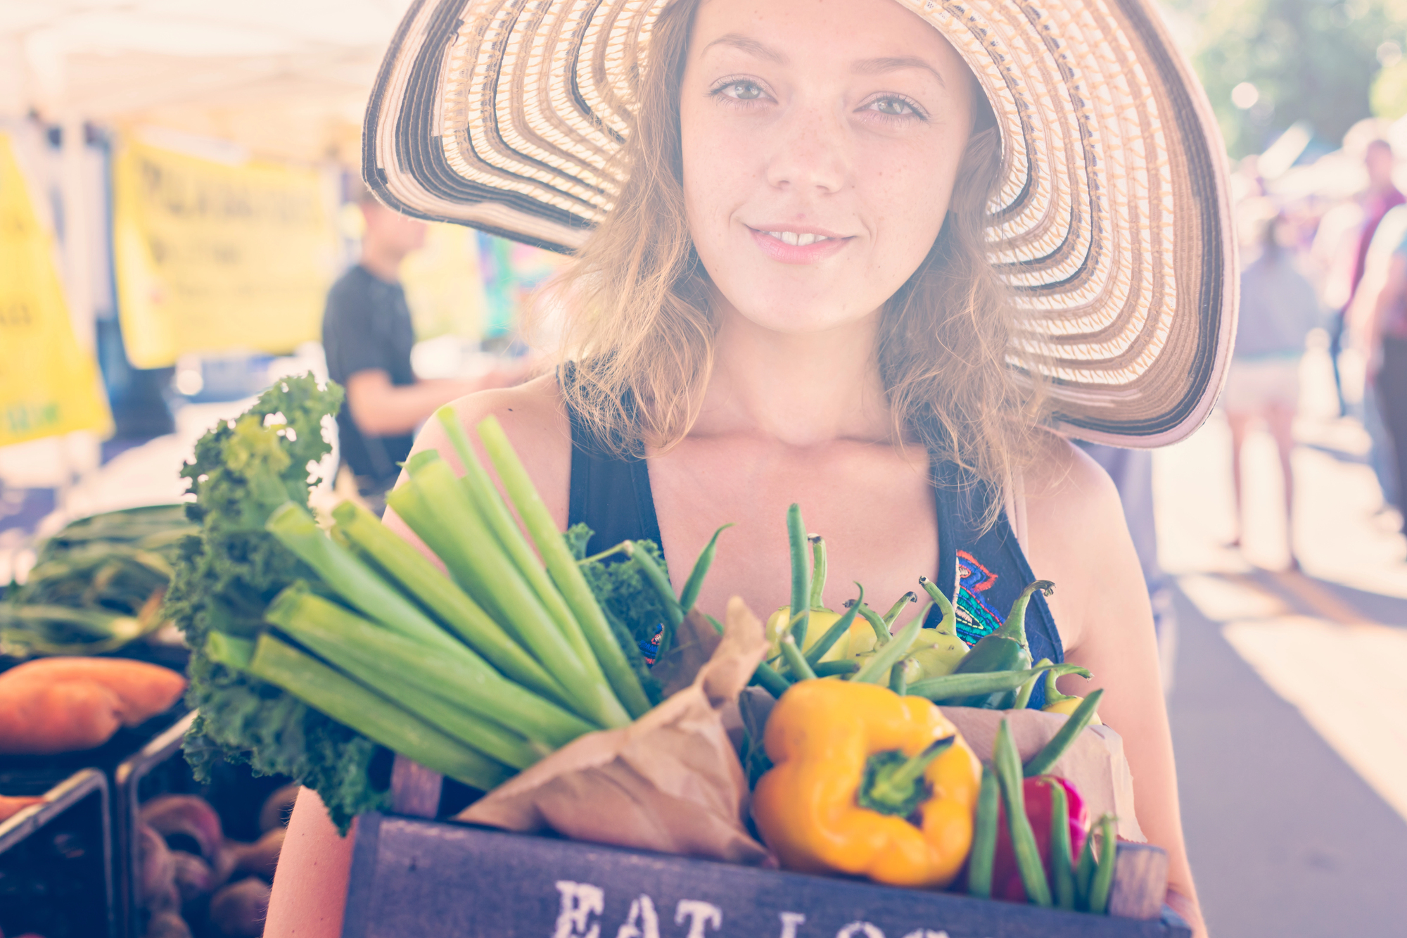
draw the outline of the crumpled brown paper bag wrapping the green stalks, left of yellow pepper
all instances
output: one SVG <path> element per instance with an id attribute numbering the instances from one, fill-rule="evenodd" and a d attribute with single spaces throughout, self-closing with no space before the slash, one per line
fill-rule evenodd
<path id="1" fill-rule="evenodd" d="M 498 786 L 456 820 L 509 831 L 554 831 L 574 841 L 718 859 L 767 863 L 767 848 L 747 834 L 747 782 L 723 724 L 767 651 L 763 624 L 737 597 L 727 604 L 716 646 L 712 627 L 681 628 L 677 658 L 664 675 L 684 684 L 619 730 L 574 739 Z M 713 632 L 716 637 L 716 632 Z M 661 659 L 661 665 L 666 661 Z"/>

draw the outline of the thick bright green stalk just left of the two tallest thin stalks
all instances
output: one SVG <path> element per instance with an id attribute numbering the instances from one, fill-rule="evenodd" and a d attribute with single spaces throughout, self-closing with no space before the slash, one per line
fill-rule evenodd
<path id="1" fill-rule="evenodd" d="M 422 456 L 425 454 L 421 454 Z M 439 554 L 456 579 L 478 600 L 476 589 L 483 590 L 491 604 L 502 611 L 497 621 L 512 624 L 518 638 L 537 658 L 553 677 L 561 682 L 580 708 L 578 713 L 604 727 L 623 727 L 630 715 L 616 700 L 599 666 L 588 666 L 577 658 L 561 638 L 557 624 L 543 608 L 528 582 L 518 573 L 512 562 L 498 549 L 494 535 L 478 517 L 469 494 L 460 487 L 459 477 L 443 459 L 421 459 L 407 462 L 411 482 L 433 511 L 415 517 L 401 511 L 395 493 L 407 489 L 400 486 L 391 492 L 387 501 L 411 525 L 411 530 Z M 447 544 L 447 554 L 440 554 L 436 542 Z M 471 549 L 478 545 L 480 549 Z M 595 659 L 590 659 L 597 665 Z"/>

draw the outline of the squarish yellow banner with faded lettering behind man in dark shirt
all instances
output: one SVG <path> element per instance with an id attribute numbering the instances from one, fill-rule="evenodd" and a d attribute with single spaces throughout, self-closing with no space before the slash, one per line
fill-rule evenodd
<path id="1" fill-rule="evenodd" d="M 315 169 L 231 166 L 127 142 L 114 165 L 127 358 L 288 352 L 317 339 L 338 258 L 335 192 Z"/>

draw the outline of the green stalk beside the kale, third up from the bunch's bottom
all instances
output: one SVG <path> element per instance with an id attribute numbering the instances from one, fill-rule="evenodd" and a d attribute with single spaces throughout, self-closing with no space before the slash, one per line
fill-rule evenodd
<path id="1" fill-rule="evenodd" d="M 364 615 L 414 638 L 439 648 L 461 648 L 453 635 L 435 624 L 411 600 L 376 575 L 318 527 L 307 508 L 286 501 L 274 508 L 265 525 L 270 534 L 311 566 L 338 596 Z"/>

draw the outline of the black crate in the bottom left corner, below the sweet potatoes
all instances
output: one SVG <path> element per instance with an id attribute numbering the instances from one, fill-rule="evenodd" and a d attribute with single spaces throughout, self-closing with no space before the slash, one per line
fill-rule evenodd
<path id="1" fill-rule="evenodd" d="M 80 769 L 56 784 L 0 772 L 0 794 L 44 800 L 0 823 L 0 930 L 45 938 L 117 938 L 107 776 Z"/>

